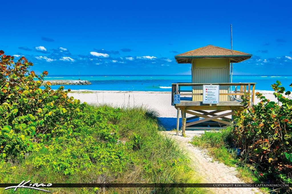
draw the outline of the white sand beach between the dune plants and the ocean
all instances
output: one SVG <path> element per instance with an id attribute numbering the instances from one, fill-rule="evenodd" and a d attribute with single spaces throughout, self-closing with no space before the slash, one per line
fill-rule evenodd
<path id="1" fill-rule="evenodd" d="M 261 92 L 267 99 L 276 101 L 274 91 L 256 90 L 256 92 Z M 171 106 L 171 92 L 72 90 L 69 96 L 89 104 L 108 104 L 114 107 L 145 106 L 159 113 L 159 122 L 166 129 L 175 128 L 177 111 Z M 255 98 L 255 103 L 258 102 L 260 100 Z"/>

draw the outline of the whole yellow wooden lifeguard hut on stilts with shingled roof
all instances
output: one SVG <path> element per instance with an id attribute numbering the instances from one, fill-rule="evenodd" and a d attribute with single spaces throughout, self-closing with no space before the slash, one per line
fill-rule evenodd
<path id="1" fill-rule="evenodd" d="M 232 124 L 232 118 L 227 116 L 243 106 L 241 95 L 245 93 L 251 97 L 249 105 L 254 103 L 256 83 L 230 83 L 230 63 L 239 63 L 251 56 L 213 45 L 175 56 L 177 63 L 192 64 L 191 83 L 172 83 L 171 104 L 178 110 L 177 133 L 180 111 L 184 134 L 185 129 L 206 130 Z M 186 118 L 186 113 L 192 117 Z"/>

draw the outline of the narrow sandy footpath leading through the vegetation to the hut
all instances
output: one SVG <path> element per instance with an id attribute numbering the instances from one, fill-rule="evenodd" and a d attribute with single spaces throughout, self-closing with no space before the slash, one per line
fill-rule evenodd
<path id="1" fill-rule="evenodd" d="M 196 134 L 195 131 L 186 131 L 187 137 L 176 136 L 173 131 L 161 131 L 162 134 L 175 139 L 180 146 L 188 153 L 194 162 L 197 172 L 201 175 L 203 183 L 244 183 L 237 178 L 237 171 L 223 163 L 213 161 L 205 151 L 188 143 Z M 262 193 L 258 188 L 208 188 L 214 193 Z"/>

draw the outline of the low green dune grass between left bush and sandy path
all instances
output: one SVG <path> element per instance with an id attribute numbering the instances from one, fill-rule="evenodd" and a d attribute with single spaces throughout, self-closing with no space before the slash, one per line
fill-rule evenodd
<path id="1" fill-rule="evenodd" d="M 95 124 L 90 123 L 81 129 L 79 136 L 74 137 L 76 144 L 64 140 L 58 150 L 41 149 L 39 152 L 29 153 L 20 161 L 2 161 L 0 165 L 1 183 L 20 183 L 31 180 L 44 183 L 199 183 L 195 178 L 190 160 L 180 149 L 178 144 L 159 133 L 161 129 L 156 120 L 157 113 L 143 107 L 112 108 L 109 106 L 87 106 L 86 120 L 96 121 L 98 114 L 108 119 L 108 124 L 117 126 L 118 141 L 110 142 L 101 138 L 96 132 Z M 111 112 L 111 114 L 107 114 Z M 116 114 L 119 116 L 116 117 Z M 97 130 L 98 131 L 98 130 Z M 114 135 L 114 134 L 109 134 Z M 82 142 L 84 143 L 78 143 Z M 90 167 L 80 167 L 80 171 L 64 174 L 57 167 L 51 165 L 35 165 L 36 158 L 46 159 L 53 163 L 66 149 L 78 150 L 86 147 L 87 141 L 94 141 L 96 145 L 110 147 L 112 154 L 119 153 L 111 167 L 100 165 L 98 160 L 91 159 Z M 74 141 L 75 142 L 75 141 Z M 73 149 L 74 148 L 74 149 Z M 95 149 L 93 147 L 93 149 Z M 105 155 L 107 152 L 104 153 Z M 50 157 L 52 156 L 52 157 Z M 69 156 L 68 156 L 69 157 Z M 71 155 L 70 155 L 71 157 Z M 78 155 L 81 159 L 84 159 Z M 114 156 L 103 156 L 110 159 Z M 77 158 L 78 160 L 78 158 Z M 101 166 L 103 170 L 101 170 Z M 55 193 L 99 193 L 102 188 L 49 188 Z M 13 190 L 1 193 L 15 193 Z M 18 189 L 18 193 L 42 193 L 35 190 Z M 105 193 L 206 193 L 203 188 L 107 188 Z"/>

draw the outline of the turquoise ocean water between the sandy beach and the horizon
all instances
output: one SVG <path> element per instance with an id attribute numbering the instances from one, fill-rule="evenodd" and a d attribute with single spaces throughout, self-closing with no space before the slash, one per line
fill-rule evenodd
<path id="1" fill-rule="evenodd" d="M 191 82 L 191 75 L 48 75 L 45 80 L 88 80 L 91 85 L 70 85 L 72 90 L 171 91 L 171 83 Z M 233 75 L 233 82 L 256 82 L 256 90 L 272 90 L 277 80 L 289 90 L 292 75 Z M 52 86 L 57 89 L 59 86 Z"/>

